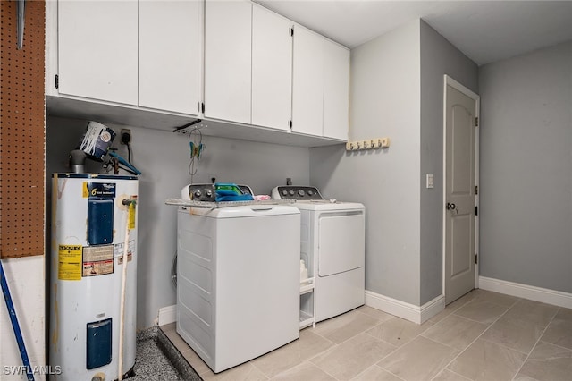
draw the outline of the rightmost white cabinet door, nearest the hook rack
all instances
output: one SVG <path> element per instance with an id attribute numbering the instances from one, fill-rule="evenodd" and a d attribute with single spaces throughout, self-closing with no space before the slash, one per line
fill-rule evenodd
<path id="1" fill-rule="evenodd" d="M 348 140 L 349 49 L 324 40 L 324 136 Z"/>

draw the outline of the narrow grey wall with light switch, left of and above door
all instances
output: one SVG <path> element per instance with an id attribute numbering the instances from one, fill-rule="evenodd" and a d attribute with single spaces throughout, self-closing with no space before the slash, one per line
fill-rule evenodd
<path id="1" fill-rule="evenodd" d="M 478 93 L 478 67 L 421 21 L 421 304 L 442 293 L 443 75 Z M 427 189 L 425 174 L 434 174 Z"/>

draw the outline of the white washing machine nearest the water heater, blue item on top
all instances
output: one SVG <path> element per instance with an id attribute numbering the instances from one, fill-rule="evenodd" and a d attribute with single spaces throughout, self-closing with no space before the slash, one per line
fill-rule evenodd
<path id="1" fill-rule="evenodd" d="M 212 201 L 214 188 L 181 197 Z M 234 204 L 177 213 L 176 329 L 214 373 L 299 338 L 299 209 Z"/>

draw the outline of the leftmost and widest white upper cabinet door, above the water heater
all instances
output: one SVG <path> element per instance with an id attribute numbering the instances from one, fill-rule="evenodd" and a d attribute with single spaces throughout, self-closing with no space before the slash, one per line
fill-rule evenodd
<path id="1" fill-rule="evenodd" d="M 59 92 L 137 105 L 137 0 L 58 3 Z"/>

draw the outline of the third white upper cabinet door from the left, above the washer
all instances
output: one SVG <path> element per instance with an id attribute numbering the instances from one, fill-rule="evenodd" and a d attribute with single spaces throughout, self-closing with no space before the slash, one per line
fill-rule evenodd
<path id="1" fill-rule="evenodd" d="M 205 116 L 250 123 L 252 4 L 205 6 Z"/>

